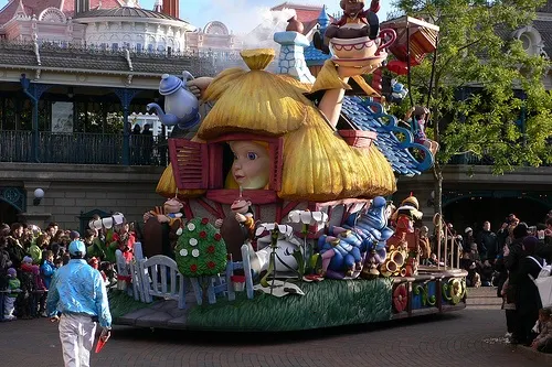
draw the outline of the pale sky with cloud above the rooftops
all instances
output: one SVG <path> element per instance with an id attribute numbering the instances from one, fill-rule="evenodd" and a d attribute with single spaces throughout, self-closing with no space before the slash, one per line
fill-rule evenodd
<path id="1" fill-rule="evenodd" d="M 17 1 L 17 0 L 15 0 Z M 24 0 L 23 0 L 24 1 Z M 65 0 L 72 1 L 72 0 Z M 217 20 L 226 24 L 234 33 L 245 33 L 254 29 L 263 21 L 269 8 L 276 7 L 285 1 L 282 0 L 180 0 L 180 18 L 191 24 L 203 28 L 208 22 Z M 338 12 L 339 0 L 315 1 L 294 0 L 290 3 L 321 4 L 326 3 L 330 14 Z M 380 19 L 386 19 L 390 11 L 390 0 L 382 0 Z M 3 8 L 8 0 L 0 0 Z M 155 0 L 139 0 L 140 7 L 153 9 Z"/>

